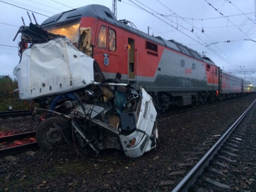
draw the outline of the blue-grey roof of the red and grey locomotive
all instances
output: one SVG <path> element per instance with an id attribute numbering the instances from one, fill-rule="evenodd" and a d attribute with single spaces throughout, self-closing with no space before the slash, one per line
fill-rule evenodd
<path id="1" fill-rule="evenodd" d="M 139 36 L 147 40 L 150 40 L 162 46 L 168 47 L 172 50 L 181 52 L 183 54 L 186 54 L 188 56 L 191 56 L 193 58 L 203 61 L 203 59 L 198 54 L 198 52 L 196 52 L 195 50 L 192 50 L 191 48 L 188 48 L 187 46 L 184 46 L 174 40 L 164 40 L 162 37 L 150 36 L 136 28 L 133 28 L 131 26 L 124 24 L 123 22 L 119 22 L 118 20 L 116 20 L 116 18 L 114 17 L 110 9 L 102 5 L 97 5 L 97 4 L 87 5 L 87 6 L 83 6 L 80 8 L 76 8 L 73 10 L 56 14 L 46 19 L 44 22 L 42 22 L 41 26 L 43 26 L 44 28 L 47 28 L 52 25 L 58 26 L 63 23 L 71 23 L 76 21 L 79 22 L 82 17 L 94 17 L 100 20 L 104 20 L 110 24 L 113 24 L 115 26 L 128 30 L 132 33 L 138 34 Z"/>

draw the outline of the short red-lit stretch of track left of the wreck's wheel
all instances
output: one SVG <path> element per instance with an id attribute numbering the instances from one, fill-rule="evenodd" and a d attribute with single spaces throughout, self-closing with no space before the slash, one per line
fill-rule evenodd
<path id="1" fill-rule="evenodd" d="M 38 148 L 35 135 L 36 132 L 32 131 L 0 137 L 0 157 Z"/>

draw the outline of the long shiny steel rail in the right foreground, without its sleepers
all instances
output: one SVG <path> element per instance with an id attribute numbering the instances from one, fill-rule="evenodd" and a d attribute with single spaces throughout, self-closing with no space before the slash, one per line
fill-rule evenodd
<path id="1" fill-rule="evenodd" d="M 176 185 L 172 192 L 186 192 L 189 187 L 196 181 L 197 177 L 203 172 L 204 168 L 212 160 L 213 156 L 218 152 L 226 139 L 230 136 L 233 130 L 240 124 L 246 114 L 254 106 L 256 100 L 244 111 L 244 113 L 232 124 L 230 128 L 222 135 L 222 137 L 210 148 L 210 150 L 199 160 L 199 162 L 186 174 L 186 176 Z"/>

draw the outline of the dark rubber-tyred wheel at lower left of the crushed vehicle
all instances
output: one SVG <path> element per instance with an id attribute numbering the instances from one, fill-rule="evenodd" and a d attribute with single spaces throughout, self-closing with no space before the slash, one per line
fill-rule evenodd
<path id="1" fill-rule="evenodd" d="M 67 119 L 54 116 L 44 120 L 36 130 L 36 142 L 41 148 L 50 148 L 64 140 L 63 133 L 70 130 Z"/>

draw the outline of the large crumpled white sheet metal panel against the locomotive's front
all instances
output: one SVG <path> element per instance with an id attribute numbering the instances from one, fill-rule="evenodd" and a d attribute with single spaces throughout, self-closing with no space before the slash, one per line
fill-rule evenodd
<path id="1" fill-rule="evenodd" d="M 60 94 L 91 84 L 93 61 L 67 38 L 33 44 L 24 50 L 20 63 L 14 68 L 20 99 Z"/>

